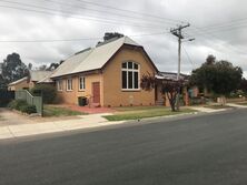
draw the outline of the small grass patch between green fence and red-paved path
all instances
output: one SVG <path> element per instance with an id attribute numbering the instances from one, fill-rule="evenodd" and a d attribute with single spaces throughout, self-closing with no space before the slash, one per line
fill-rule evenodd
<path id="1" fill-rule="evenodd" d="M 87 113 L 78 112 L 78 111 L 71 111 L 66 107 L 57 107 L 57 106 L 50 106 L 45 105 L 43 106 L 43 116 L 72 116 L 72 115 L 85 115 Z"/>

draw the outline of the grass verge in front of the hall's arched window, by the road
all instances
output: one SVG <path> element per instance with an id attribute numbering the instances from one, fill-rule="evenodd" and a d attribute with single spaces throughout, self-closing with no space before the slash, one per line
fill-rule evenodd
<path id="1" fill-rule="evenodd" d="M 181 109 L 178 112 L 171 112 L 169 107 L 164 106 L 117 107 L 116 110 L 118 112 L 113 115 L 107 115 L 103 117 L 108 121 L 124 121 L 196 112 L 189 109 Z"/>

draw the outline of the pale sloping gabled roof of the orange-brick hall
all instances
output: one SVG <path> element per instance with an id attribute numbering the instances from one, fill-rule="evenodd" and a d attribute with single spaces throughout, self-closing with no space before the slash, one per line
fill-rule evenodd
<path id="1" fill-rule="evenodd" d="M 100 43 L 96 48 L 86 49 L 68 58 L 58 69 L 56 69 L 51 78 L 99 70 L 124 44 L 140 47 L 128 37 Z"/>

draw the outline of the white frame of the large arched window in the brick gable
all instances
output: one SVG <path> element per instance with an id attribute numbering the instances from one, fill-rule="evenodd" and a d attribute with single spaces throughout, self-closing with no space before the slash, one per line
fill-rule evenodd
<path id="1" fill-rule="evenodd" d="M 131 62 L 132 63 L 132 69 L 128 69 L 128 63 Z M 122 63 L 126 63 L 126 69 L 122 68 Z M 140 64 L 135 62 L 135 61 L 125 61 L 121 63 L 121 90 L 122 91 L 140 91 Z M 135 64 L 138 65 L 138 70 L 134 69 Z M 122 71 L 126 71 L 126 75 L 127 75 L 127 88 L 124 89 L 122 88 Z M 129 72 L 132 72 L 132 89 L 129 89 Z M 135 89 L 135 72 L 138 72 L 138 88 Z"/>

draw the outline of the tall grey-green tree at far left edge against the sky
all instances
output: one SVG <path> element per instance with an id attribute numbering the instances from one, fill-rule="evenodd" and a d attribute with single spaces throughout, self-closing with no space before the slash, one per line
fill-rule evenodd
<path id="1" fill-rule="evenodd" d="M 2 82 L 1 85 L 7 86 L 8 83 L 17 81 L 28 75 L 28 68 L 21 61 L 18 53 L 8 54 L 2 64 Z"/>

